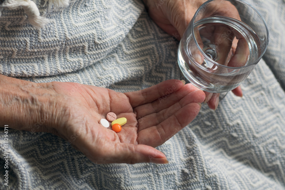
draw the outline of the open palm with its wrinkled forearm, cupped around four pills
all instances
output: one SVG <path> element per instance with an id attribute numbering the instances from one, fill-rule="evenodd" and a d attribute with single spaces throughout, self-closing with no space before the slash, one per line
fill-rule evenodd
<path id="1" fill-rule="evenodd" d="M 54 133 L 97 164 L 167 163 L 165 155 L 153 147 L 189 124 L 205 99 L 203 91 L 179 80 L 127 93 L 69 82 L 32 83 L 3 75 L 1 81 L 1 91 L 10 91 L 1 101 L 11 112 L 2 121 L 15 129 Z M 127 119 L 118 133 L 99 124 L 109 112 Z"/>

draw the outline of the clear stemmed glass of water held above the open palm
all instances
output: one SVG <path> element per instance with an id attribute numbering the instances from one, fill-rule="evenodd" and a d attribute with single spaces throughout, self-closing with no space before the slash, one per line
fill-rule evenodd
<path id="1" fill-rule="evenodd" d="M 183 75 L 212 93 L 239 86 L 268 45 L 262 15 L 243 0 L 209 0 L 196 11 L 178 48 Z"/>

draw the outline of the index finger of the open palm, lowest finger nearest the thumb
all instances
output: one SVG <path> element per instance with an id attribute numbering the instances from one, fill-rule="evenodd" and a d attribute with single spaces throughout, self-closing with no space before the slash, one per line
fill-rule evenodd
<path id="1" fill-rule="evenodd" d="M 139 144 L 152 147 L 159 146 L 170 139 L 174 134 L 189 124 L 199 113 L 200 105 L 190 103 L 157 126 L 152 126 L 138 132 Z"/>

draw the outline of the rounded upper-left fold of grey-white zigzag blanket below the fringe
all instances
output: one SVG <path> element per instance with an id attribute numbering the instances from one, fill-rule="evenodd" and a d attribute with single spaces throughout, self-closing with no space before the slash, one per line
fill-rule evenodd
<path id="1" fill-rule="evenodd" d="M 125 38 L 144 8 L 139 0 L 74 0 L 51 11 L 44 0 L 36 3 L 50 21 L 41 30 L 28 23 L 23 10 L 3 9 L 0 74 L 49 76 L 94 64 Z"/>

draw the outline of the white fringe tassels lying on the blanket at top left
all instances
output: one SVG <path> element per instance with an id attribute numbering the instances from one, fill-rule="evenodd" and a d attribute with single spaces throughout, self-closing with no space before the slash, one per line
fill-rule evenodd
<path id="1" fill-rule="evenodd" d="M 68 0 L 50 0 L 48 6 L 49 9 L 52 7 L 52 4 L 56 7 L 66 7 L 68 6 Z M 2 3 L 1 8 L 17 9 L 20 6 L 23 7 L 25 13 L 28 15 L 30 23 L 36 29 L 40 30 L 40 28 L 49 23 L 48 19 L 40 16 L 40 11 L 38 10 L 36 3 L 31 0 L 6 0 Z"/>

